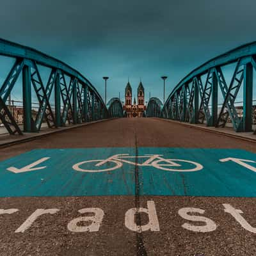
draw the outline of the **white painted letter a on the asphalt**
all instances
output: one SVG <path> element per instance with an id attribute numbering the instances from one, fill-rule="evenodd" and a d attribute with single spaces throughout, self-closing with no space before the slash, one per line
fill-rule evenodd
<path id="1" fill-rule="evenodd" d="M 80 213 L 94 213 L 94 216 L 83 216 L 76 218 L 68 223 L 68 230 L 71 232 L 97 232 L 102 222 L 104 211 L 100 208 L 84 208 L 79 210 Z M 78 226 L 81 221 L 91 221 L 89 226 Z"/>

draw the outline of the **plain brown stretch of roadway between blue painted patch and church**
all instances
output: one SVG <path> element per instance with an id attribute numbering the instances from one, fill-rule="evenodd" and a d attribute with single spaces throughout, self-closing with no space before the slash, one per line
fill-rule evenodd
<path id="1" fill-rule="evenodd" d="M 138 147 L 243 148 L 256 152 L 255 143 L 157 118 L 118 118 L 0 149 L 0 159 L 34 148 L 135 147 L 136 143 Z"/>

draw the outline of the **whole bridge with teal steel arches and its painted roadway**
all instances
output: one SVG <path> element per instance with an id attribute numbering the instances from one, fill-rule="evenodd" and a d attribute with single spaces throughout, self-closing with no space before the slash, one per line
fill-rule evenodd
<path id="1" fill-rule="evenodd" d="M 256 42 L 145 118 L 42 52 L 0 54 L 0 255 L 255 255 Z"/>

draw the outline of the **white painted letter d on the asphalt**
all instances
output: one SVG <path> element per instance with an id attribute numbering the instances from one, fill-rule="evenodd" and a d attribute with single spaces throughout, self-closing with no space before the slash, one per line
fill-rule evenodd
<path id="1" fill-rule="evenodd" d="M 154 201 L 147 201 L 147 207 L 148 209 L 145 208 L 132 208 L 129 209 L 125 213 L 125 227 L 129 228 L 129 230 L 135 231 L 135 232 L 143 232 L 147 230 L 151 231 L 159 231 L 159 223 L 157 219 L 157 214 L 156 214 L 156 205 Z M 140 212 L 144 212 L 148 214 L 148 224 L 147 225 L 137 225 L 135 223 L 134 217 L 136 214 L 139 214 Z"/>

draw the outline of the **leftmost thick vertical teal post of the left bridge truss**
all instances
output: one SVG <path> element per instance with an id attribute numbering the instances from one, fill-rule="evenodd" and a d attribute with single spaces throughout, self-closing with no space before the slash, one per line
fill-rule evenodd
<path id="1" fill-rule="evenodd" d="M 22 90 L 24 132 L 32 132 L 31 69 L 27 65 L 24 65 L 22 70 Z"/>

